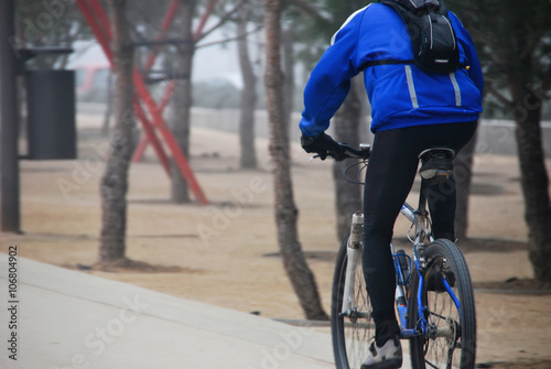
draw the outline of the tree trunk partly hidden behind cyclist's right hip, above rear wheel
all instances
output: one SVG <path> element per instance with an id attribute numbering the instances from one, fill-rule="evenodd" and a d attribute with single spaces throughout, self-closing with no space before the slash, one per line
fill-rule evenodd
<path id="1" fill-rule="evenodd" d="M 455 238 L 460 240 L 467 238 L 468 197 L 471 195 L 471 183 L 473 180 L 473 156 L 475 146 L 476 134 L 453 161 L 457 198 L 457 207 L 455 208 Z"/>

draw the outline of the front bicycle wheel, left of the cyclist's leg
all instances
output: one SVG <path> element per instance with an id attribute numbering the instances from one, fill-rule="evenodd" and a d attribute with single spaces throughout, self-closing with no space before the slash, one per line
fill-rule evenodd
<path id="1" fill-rule="evenodd" d="M 363 312 L 364 316 L 342 316 L 344 280 L 347 268 L 347 236 L 338 250 L 333 275 L 331 304 L 331 333 L 333 354 L 337 369 L 359 369 L 367 359 L 369 345 L 375 339 L 375 325 L 371 318 L 371 303 L 367 294 L 361 253 L 358 256 L 354 283 L 353 311 Z M 367 314 L 366 314 L 367 313 Z M 367 317 L 366 317 L 367 315 Z"/>

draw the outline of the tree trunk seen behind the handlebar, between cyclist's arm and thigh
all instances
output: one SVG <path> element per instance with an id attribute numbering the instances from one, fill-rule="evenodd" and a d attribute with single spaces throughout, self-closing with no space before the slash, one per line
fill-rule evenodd
<path id="1" fill-rule="evenodd" d="M 334 139 L 346 142 L 353 148 L 359 144 L 359 123 L 361 120 L 363 105 L 361 93 L 358 84 L 363 84 L 361 77 L 354 78 L 352 88 L 343 106 L 333 119 Z M 333 163 L 333 180 L 335 181 L 335 207 L 337 216 L 337 237 L 339 240 L 350 231 L 352 215 L 361 210 L 361 186 L 345 180 L 343 172 L 353 164 L 352 160 L 335 161 Z M 355 171 L 353 170 L 353 173 Z"/>

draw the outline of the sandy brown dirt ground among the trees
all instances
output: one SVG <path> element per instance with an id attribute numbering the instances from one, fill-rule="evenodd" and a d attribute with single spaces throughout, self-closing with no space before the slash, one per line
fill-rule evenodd
<path id="1" fill-rule="evenodd" d="M 152 152 L 132 164 L 126 252 L 158 267 L 138 271 L 88 270 L 98 254 L 98 184 L 106 148 L 97 130 L 87 128 L 80 131 L 78 161 L 21 162 L 24 234 L 0 235 L 0 251 L 15 243 L 22 257 L 177 297 L 266 317 L 303 318 L 280 259 L 270 256 L 278 245 L 267 140 L 257 142 L 260 169 L 240 171 L 235 134 L 192 131 L 192 165 L 210 206 L 171 204 L 169 178 Z M 309 162 L 298 144 L 292 149 L 300 240 L 328 312 L 339 246 L 331 163 Z M 476 285 L 477 361 L 480 368 L 551 368 L 551 294 L 529 281 L 516 158 L 477 155 L 474 171 L 472 241 L 463 247 Z M 396 236 L 403 238 L 408 228 L 400 217 Z"/>

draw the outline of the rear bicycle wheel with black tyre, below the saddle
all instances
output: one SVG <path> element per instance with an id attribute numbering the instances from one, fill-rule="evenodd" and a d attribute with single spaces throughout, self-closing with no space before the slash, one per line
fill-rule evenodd
<path id="1" fill-rule="evenodd" d="M 476 312 L 471 275 L 463 253 L 446 239 L 439 239 L 424 250 L 422 303 L 426 307 L 428 333 L 410 338 L 411 365 L 424 368 L 475 368 Z M 458 300 L 458 310 L 443 278 Z M 408 305 L 409 328 L 417 325 L 419 273 L 414 271 Z M 458 352 L 457 352 L 458 351 Z"/>

